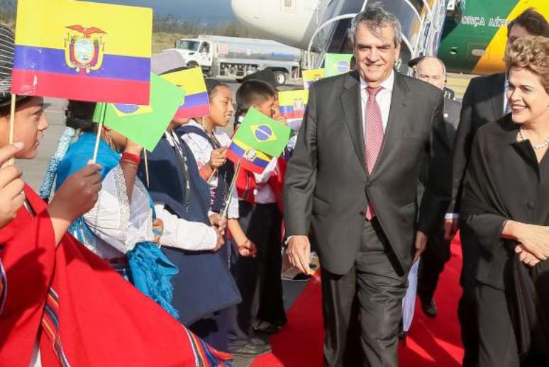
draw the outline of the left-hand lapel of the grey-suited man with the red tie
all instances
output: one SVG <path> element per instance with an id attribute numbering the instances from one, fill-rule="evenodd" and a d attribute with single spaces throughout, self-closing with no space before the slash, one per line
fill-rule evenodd
<path id="1" fill-rule="evenodd" d="M 340 96 L 340 100 L 343 106 L 343 113 L 345 114 L 345 123 L 347 123 L 350 138 L 353 141 L 353 147 L 360 163 L 366 170 L 359 80 L 357 72 L 348 74 L 347 78 L 343 81 L 343 93 Z"/>

